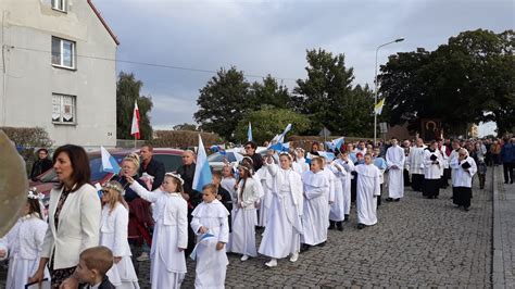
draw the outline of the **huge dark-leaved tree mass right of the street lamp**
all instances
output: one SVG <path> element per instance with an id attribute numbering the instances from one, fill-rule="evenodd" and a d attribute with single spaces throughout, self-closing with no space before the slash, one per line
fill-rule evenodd
<path id="1" fill-rule="evenodd" d="M 436 51 L 391 55 L 379 75 L 391 124 L 440 118 L 445 131 L 494 121 L 503 134 L 515 124 L 514 32 L 464 32 Z"/>

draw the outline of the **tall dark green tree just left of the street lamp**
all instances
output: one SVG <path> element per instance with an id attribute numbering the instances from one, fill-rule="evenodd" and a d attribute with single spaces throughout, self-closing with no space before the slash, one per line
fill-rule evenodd
<path id="1" fill-rule="evenodd" d="M 307 79 L 298 79 L 291 105 L 310 115 L 317 134 L 327 127 L 336 135 L 368 136 L 373 129 L 373 91 L 368 86 L 352 87 L 353 68 L 347 68 L 344 55 L 323 49 L 307 50 Z"/>

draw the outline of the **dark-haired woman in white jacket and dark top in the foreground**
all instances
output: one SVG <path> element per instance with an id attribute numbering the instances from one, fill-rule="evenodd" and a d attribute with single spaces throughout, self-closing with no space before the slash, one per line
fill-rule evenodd
<path id="1" fill-rule="evenodd" d="M 80 252 L 99 244 L 101 204 L 89 184 L 89 160 L 81 147 L 58 148 L 53 169 L 59 184 L 50 191 L 49 226 L 39 267 L 29 282 L 42 280 L 48 263 L 52 288 L 59 288 L 74 273 Z"/>

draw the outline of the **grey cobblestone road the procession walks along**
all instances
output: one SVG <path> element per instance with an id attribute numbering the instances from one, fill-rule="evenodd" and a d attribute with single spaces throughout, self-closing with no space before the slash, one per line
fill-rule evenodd
<path id="1" fill-rule="evenodd" d="M 406 188 L 400 202 L 382 202 L 379 223 L 357 230 L 355 208 L 342 233 L 330 230 L 325 247 L 291 263 L 267 268 L 264 256 L 241 262 L 229 254 L 227 287 L 491 287 L 492 173 L 487 190 L 473 189 L 469 212 L 452 205 L 451 189 L 437 200 Z M 387 196 L 384 193 L 382 198 Z M 513 218 L 512 218 L 513 221 Z M 506 236 L 507 238 L 513 236 Z M 512 251 L 513 252 L 513 251 Z M 137 255 L 137 254 L 135 254 Z M 150 262 L 140 262 L 141 288 L 149 288 Z M 0 273 L 3 274 L 4 272 Z M 0 278 L 4 278 L 0 276 Z M 192 288 L 188 260 L 184 288 Z M 1 287 L 1 284 L 0 284 Z"/>

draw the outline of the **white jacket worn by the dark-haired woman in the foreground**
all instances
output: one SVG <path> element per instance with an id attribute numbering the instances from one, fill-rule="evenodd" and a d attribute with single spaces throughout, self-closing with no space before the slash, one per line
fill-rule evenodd
<path id="1" fill-rule="evenodd" d="M 64 202 L 55 227 L 54 214 L 63 189 L 50 191 L 49 227 L 45 235 L 42 257 L 54 257 L 53 268 L 78 264 L 79 254 L 99 244 L 101 204 L 97 189 L 89 184 L 71 192 Z M 55 249 L 55 251 L 54 251 Z"/>

